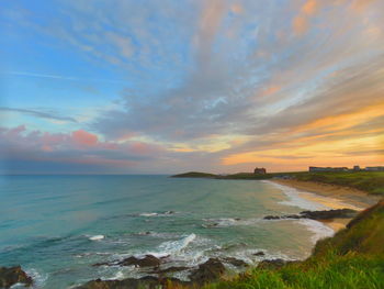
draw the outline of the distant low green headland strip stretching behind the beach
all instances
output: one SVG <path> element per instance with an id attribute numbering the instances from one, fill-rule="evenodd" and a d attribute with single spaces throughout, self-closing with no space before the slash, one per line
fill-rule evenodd
<path id="1" fill-rule="evenodd" d="M 179 178 L 215 178 L 215 179 L 271 179 L 289 177 L 304 181 L 317 181 L 329 185 L 346 186 L 368 193 L 384 196 L 384 171 L 331 171 L 331 173 L 272 173 L 272 174 L 252 174 L 238 173 L 234 175 L 214 175 L 207 173 L 191 171 L 173 177 Z"/>

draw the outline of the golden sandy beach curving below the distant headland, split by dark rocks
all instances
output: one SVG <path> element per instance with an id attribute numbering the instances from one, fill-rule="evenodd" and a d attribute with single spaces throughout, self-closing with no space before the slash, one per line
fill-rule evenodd
<path id="1" fill-rule="evenodd" d="M 375 204 L 381 199 L 377 196 L 368 194 L 361 190 L 315 181 L 301 181 L 295 179 L 273 179 L 272 181 L 292 187 L 298 191 L 300 197 L 321 203 L 330 209 L 348 208 L 361 211 Z M 346 227 L 350 220 L 351 219 L 332 219 L 323 221 L 323 223 L 337 232 Z"/>

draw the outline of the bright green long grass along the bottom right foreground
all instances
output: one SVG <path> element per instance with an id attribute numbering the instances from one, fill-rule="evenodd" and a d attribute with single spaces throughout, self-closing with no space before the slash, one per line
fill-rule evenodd
<path id="1" fill-rule="evenodd" d="M 380 289 L 384 288 L 384 260 L 376 256 L 327 255 L 327 262 L 286 265 L 281 269 L 253 269 L 204 289 Z"/>

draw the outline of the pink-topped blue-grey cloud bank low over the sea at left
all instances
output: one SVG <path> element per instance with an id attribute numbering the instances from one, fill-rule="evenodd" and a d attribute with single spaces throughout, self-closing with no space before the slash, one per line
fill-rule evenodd
<path id="1" fill-rule="evenodd" d="M 0 156 L 35 162 L 97 165 L 105 167 L 137 166 L 137 156 L 157 158 L 165 147 L 145 142 L 104 142 L 84 130 L 70 133 L 27 131 L 25 125 L 0 127 Z M 113 152 L 111 152 L 113 151 Z"/>

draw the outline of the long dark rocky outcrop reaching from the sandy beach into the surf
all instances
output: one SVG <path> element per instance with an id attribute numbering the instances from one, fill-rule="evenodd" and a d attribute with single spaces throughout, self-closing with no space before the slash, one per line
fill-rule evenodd
<path id="1" fill-rule="evenodd" d="M 312 220 L 330 220 L 335 218 L 349 219 L 358 214 L 358 211 L 351 209 L 337 209 L 325 211 L 303 211 L 300 214 L 286 215 L 266 215 L 264 220 L 281 220 L 281 219 L 312 219 Z"/>

